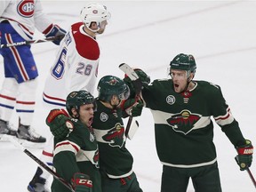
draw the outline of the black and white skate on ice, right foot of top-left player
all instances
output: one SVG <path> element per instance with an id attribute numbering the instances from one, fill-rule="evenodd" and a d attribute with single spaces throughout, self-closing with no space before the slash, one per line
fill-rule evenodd
<path id="1" fill-rule="evenodd" d="M 46 139 L 37 134 L 30 126 L 20 124 L 16 136 L 24 147 L 44 148 Z"/>

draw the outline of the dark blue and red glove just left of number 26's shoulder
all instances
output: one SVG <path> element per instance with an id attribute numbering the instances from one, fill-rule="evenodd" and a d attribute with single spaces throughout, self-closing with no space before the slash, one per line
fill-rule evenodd
<path id="1" fill-rule="evenodd" d="M 60 41 L 67 33 L 63 28 L 60 28 L 58 25 L 50 25 L 48 28 L 44 30 L 44 36 L 50 37 L 55 36 L 56 40 L 52 41 L 53 44 L 60 44 Z"/>

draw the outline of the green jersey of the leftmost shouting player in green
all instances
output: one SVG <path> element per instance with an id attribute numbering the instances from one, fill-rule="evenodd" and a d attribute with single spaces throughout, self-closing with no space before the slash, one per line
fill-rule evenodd
<path id="1" fill-rule="evenodd" d="M 92 180 L 92 190 L 101 191 L 99 148 L 92 128 L 77 119 L 71 119 L 74 130 L 63 140 L 54 138 L 53 167 L 68 182 L 76 172 L 87 174 Z M 53 180 L 52 192 L 69 192 L 59 180 Z"/>

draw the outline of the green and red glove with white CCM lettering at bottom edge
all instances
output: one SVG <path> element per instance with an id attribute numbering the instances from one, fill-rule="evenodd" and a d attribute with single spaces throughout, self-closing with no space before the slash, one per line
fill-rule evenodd
<path id="1" fill-rule="evenodd" d="M 92 192 L 92 180 L 84 173 L 76 172 L 71 183 L 76 192 Z"/>

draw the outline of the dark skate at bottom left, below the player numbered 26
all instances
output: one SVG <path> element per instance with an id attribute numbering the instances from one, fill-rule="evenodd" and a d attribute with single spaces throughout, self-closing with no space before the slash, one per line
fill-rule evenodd
<path id="1" fill-rule="evenodd" d="M 46 180 L 41 177 L 43 170 L 37 167 L 36 174 L 28 184 L 28 191 L 30 192 L 50 192 L 47 188 Z"/>

